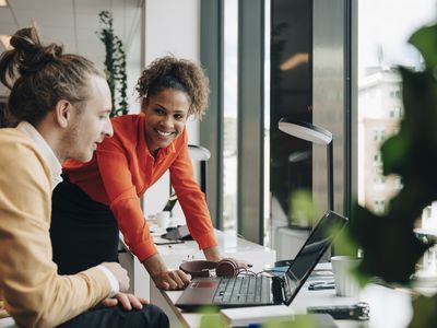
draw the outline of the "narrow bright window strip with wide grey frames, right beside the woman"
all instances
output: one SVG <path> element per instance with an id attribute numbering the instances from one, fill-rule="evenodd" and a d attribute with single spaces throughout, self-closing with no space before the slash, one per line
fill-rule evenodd
<path id="1" fill-rule="evenodd" d="M 262 124 L 264 0 L 201 1 L 201 62 L 210 78 L 200 126 L 209 164 L 209 208 L 215 226 L 263 239 Z M 253 35 L 259 37 L 252 37 Z"/>

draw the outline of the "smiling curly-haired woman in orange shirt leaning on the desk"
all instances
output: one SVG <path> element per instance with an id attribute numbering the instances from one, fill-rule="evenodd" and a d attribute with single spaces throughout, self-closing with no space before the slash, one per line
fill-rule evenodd
<path id="1" fill-rule="evenodd" d="M 137 91 L 142 113 L 113 118 L 114 137 L 98 144 L 91 162 L 64 163 L 64 181 L 54 192 L 54 260 L 60 273 L 116 260 L 120 230 L 158 288 L 180 289 L 190 277 L 162 261 L 140 198 L 169 169 L 191 236 L 208 260 L 220 260 L 186 131 L 188 117 L 204 114 L 209 81 L 200 66 L 167 56 L 143 71 Z"/>

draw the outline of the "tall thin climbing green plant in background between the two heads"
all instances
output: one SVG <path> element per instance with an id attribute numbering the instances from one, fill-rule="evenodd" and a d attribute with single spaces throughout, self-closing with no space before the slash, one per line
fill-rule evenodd
<path id="1" fill-rule="evenodd" d="M 113 98 L 110 117 L 128 114 L 126 90 L 128 87 L 126 73 L 126 54 L 120 38 L 114 34 L 113 14 L 104 10 L 98 14 L 101 30 L 97 36 L 105 45 L 105 73 Z"/>

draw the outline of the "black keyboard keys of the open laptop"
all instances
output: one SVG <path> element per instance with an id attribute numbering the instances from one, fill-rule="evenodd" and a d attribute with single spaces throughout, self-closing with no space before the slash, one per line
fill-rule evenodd
<path id="1" fill-rule="evenodd" d="M 221 278 L 215 304 L 258 304 L 270 300 L 270 279 L 264 276 Z"/>

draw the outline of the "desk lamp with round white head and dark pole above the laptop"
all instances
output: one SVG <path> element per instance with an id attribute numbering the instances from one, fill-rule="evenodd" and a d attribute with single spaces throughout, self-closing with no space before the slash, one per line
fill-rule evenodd
<path id="1" fill-rule="evenodd" d="M 280 119 L 279 129 L 290 136 L 327 147 L 328 166 L 328 206 L 329 210 L 334 209 L 334 186 L 333 186 L 333 138 L 332 133 L 323 128 L 306 121 L 283 117 Z"/>

